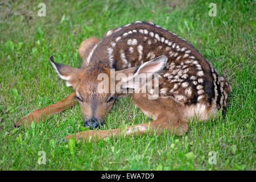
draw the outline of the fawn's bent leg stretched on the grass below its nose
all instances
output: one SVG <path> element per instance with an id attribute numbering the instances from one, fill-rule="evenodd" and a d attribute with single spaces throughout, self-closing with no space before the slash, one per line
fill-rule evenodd
<path id="1" fill-rule="evenodd" d="M 148 100 L 143 94 L 134 94 L 135 104 L 147 115 L 151 115 L 154 121 L 142 123 L 139 125 L 128 126 L 122 129 L 113 130 L 87 130 L 81 133 L 68 135 L 65 137 L 69 139 L 100 139 L 110 137 L 112 135 L 124 134 L 129 136 L 131 134 L 142 135 L 150 131 L 151 134 L 161 134 L 167 130 L 170 134 L 183 135 L 188 130 L 188 124 L 185 118 L 181 117 L 179 110 L 181 106 L 175 101 L 168 99 Z"/>

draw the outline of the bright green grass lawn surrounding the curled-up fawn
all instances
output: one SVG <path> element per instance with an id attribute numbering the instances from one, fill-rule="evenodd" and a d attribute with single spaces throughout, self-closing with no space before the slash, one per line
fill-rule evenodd
<path id="1" fill-rule="evenodd" d="M 255 1 L 46 1 L 0 4 L 1 170 L 255 170 Z M 115 137 L 98 142 L 59 142 L 84 130 L 79 105 L 43 123 L 14 129 L 32 110 L 72 93 L 48 61 L 81 65 L 77 49 L 90 36 L 135 20 L 154 20 L 193 44 L 230 81 L 226 113 L 207 123 L 190 123 L 181 137 Z M 104 129 L 149 119 L 129 97 L 117 101 Z M 38 164 L 39 151 L 46 165 Z M 217 164 L 208 163 L 217 152 Z"/>

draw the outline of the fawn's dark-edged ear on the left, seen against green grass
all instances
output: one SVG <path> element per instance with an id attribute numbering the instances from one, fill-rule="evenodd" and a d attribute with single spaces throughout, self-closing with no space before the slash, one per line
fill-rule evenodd
<path id="1" fill-rule="evenodd" d="M 55 63 L 52 55 L 49 57 L 49 61 L 53 65 L 53 68 L 55 68 L 55 71 L 58 73 L 60 78 L 67 81 L 67 86 L 73 86 L 73 84 L 75 84 L 76 78 L 80 73 L 79 68 L 73 68 L 69 67 L 68 65 Z"/>

